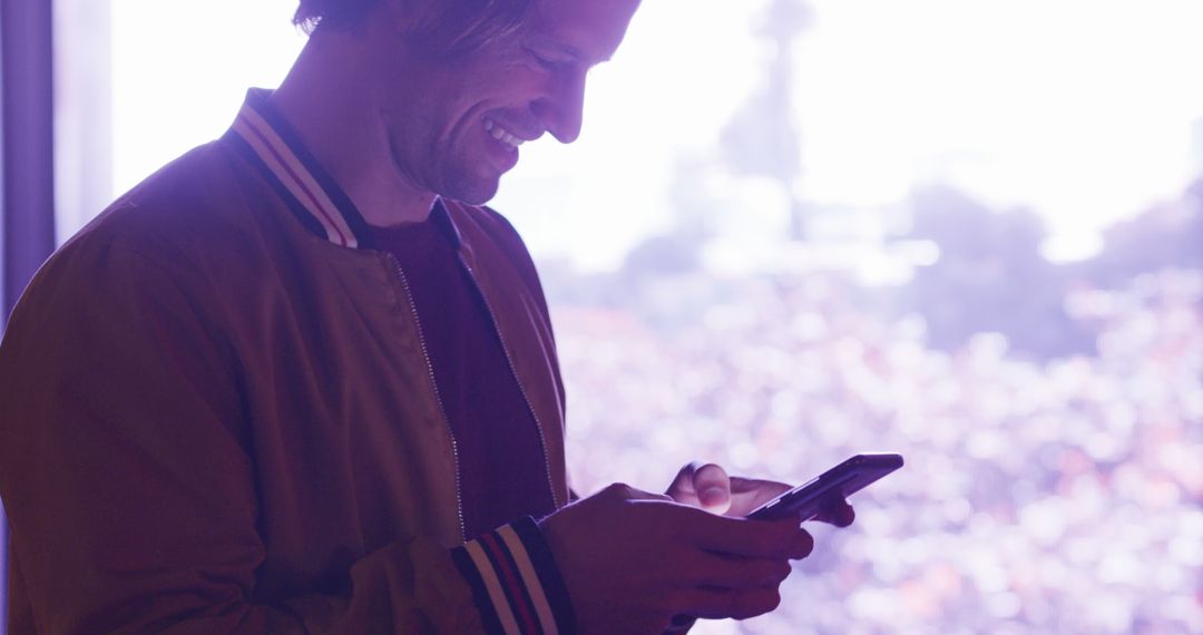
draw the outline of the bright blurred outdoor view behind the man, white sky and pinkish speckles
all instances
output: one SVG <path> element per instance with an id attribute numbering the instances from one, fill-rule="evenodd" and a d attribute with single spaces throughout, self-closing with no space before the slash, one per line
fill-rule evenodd
<path id="1" fill-rule="evenodd" d="M 290 0 L 54 0 L 65 239 L 220 135 Z M 494 207 L 575 487 L 907 467 L 698 633 L 1203 633 L 1203 2 L 646 0 Z"/>

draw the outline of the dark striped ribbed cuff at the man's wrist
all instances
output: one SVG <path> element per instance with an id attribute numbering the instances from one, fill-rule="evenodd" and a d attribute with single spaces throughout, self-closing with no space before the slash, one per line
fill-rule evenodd
<path id="1" fill-rule="evenodd" d="M 529 516 L 451 550 L 488 633 L 568 634 L 576 622 L 543 532 Z"/>

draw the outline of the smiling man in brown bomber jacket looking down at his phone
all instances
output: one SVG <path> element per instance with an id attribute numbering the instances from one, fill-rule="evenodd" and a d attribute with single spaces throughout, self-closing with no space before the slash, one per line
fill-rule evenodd
<path id="1" fill-rule="evenodd" d="M 522 142 L 576 138 L 636 5 L 302 0 L 280 88 L 13 311 L 12 633 L 657 633 L 776 606 L 811 539 L 737 517 L 783 485 L 687 465 L 668 495 L 569 505 L 538 278 L 476 207 Z"/>

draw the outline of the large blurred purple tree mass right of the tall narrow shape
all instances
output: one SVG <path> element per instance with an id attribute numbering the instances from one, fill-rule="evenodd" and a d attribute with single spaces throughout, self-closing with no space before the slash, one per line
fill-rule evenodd
<path id="1" fill-rule="evenodd" d="M 940 248 L 902 301 L 926 321 L 929 345 L 952 351 L 996 332 L 1012 351 L 1038 358 L 1094 352 L 1094 334 L 1065 310 L 1068 272 L 1041 255 L 1044 226 L 1035 213 L 995 212 L 948 186 L 917 191 L 911 206 L 906 238 Z"/>

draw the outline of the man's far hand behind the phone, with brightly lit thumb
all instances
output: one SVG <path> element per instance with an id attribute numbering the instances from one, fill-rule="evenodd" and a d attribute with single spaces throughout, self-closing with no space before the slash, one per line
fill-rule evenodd
<path id="1" fill-rule="evenodd" d="M 728 476 L 715 463 L 694 461 L 681 468 L 665 494 L 683 505 L 712 514 L 742 518 L 752 510 L 788 492 L 790 486 L 759 479 Z M 814 518 L 836 527 L 848 527 L 857 515 L 843 499 L 831 499 Z"/>

